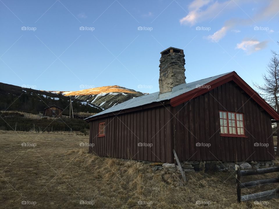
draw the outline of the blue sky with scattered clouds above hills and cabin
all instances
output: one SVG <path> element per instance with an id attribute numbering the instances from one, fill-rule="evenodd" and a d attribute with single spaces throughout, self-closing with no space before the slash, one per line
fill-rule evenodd
<path id="1" fill-rule="evenodd" d="M 253 87 L 279 51 L 278 11 L 277 0 L 0 0 L 0 82 L 152 93 L 160 52 L 173 46 L 186 82 L 236 71 Z"/>

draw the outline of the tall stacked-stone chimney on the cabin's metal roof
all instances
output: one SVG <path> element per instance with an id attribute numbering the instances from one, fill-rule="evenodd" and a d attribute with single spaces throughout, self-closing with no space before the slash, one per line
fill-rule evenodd
<path id="1" fill-rule="evenodd" d="M 185 83 L 185 55 L 183 49 L 169 47 L 161 52 L 159 89 L 160 96 L 171 92 L 172 87 Z"/>

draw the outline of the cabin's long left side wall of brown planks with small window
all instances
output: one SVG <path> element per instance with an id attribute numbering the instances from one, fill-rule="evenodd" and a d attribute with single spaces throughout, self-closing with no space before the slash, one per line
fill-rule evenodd
<path id="1" fill-rule="evenodd" d="M 98 137 L 100 122 L 105 122 L 103 137 Z M 90 143 L 94 146 L 89 152 L 115 158 L 173 162 L 171 124 L 170 105 L 92 120 Z M 138 146 L 139 143 L 152 146 Z"/>

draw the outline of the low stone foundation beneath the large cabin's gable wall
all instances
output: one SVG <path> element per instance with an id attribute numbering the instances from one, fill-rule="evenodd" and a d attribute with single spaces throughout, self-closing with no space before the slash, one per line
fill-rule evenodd
<path id="1" fill-rule="evenodd" d="M 235 164 L 240 166 L 241 170 L 253 170 L 259 168 L 279 167 L 278 161 L 248 161 L 248 162 L 220 162 L 220 161 L 182 161 L 181 167 L 185 172 L 218 172 L 235 171 Z M 149 163 L 154 171 L 169 170 L 179 172 L 178 165 L 174 163 Z"/>

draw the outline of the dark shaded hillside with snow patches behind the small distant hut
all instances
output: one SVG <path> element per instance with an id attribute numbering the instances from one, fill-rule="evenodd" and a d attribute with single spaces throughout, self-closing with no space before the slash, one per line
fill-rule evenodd
<path id="1" fill-rule="evenodd" d="M 22 88 L 0 82 L 0 110 L 17 110 L 38 114 L 44 108 L 57 105 L 64 109 L 63 115 L 69 115 L 69 97 L 46 91 Z M 103 108 L 79 99 L 73 99 L 74 112 L 98 113 Z"/>

